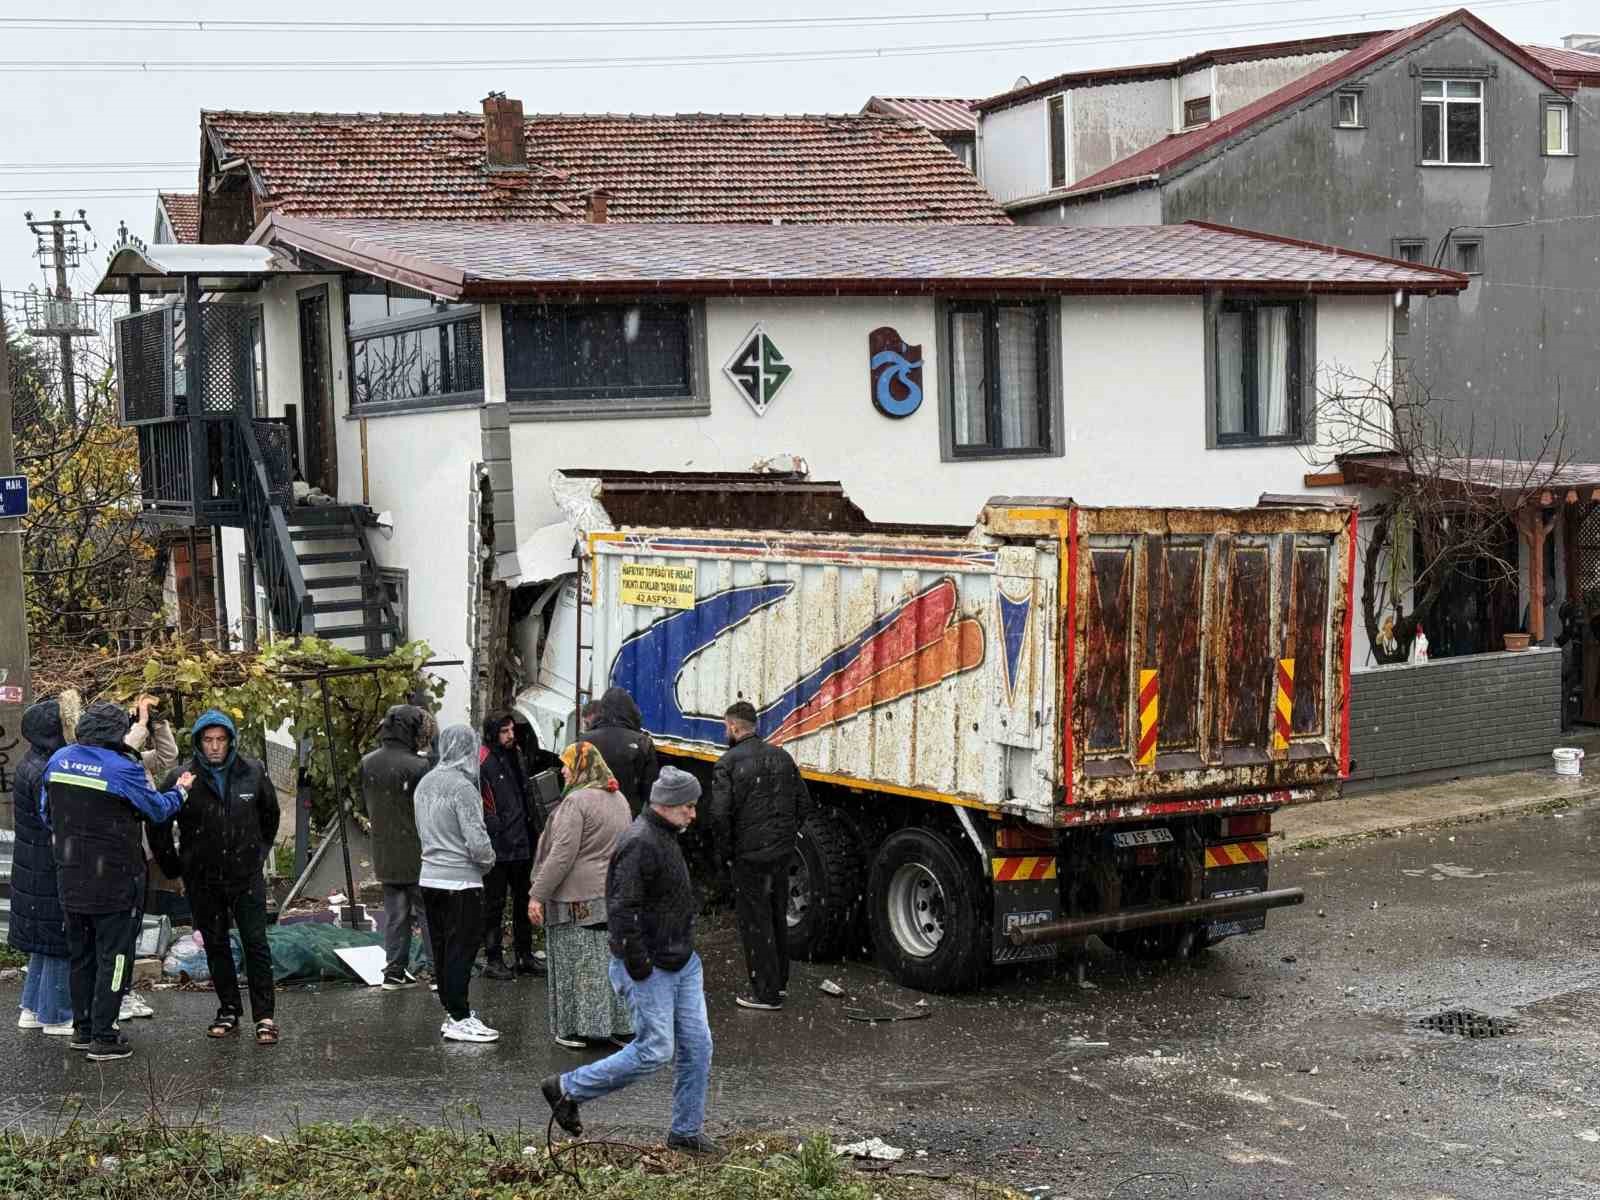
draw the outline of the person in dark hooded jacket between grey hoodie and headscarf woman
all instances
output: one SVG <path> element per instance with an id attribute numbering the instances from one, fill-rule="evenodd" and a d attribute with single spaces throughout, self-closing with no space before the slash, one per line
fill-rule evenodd
<path id="1" fill-rule="evenodd" d="M 494 869 L 483 877 L 485 979 L 514 979 L 538 974 L 533 957 L 533 922 L 528 920 L 528 883 L 533 877 L 533 846 L 539 826 L 528 786 L 528 771 L 517 746 L 517 725 L 510 714 L 483 722 L 478 750 L 478 787 L 483 790 L 483 824 L 494 845 Z M 512 944 L 517 950 L 515 974 L 506 966 L 506 896 L 510 894 Z"/>

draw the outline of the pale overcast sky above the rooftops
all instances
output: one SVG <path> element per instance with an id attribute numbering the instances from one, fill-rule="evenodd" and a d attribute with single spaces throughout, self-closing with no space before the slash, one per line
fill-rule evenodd
<path id="1" fill-rule="evenodd" d="M 1446 8 L 1371 0 L 982 0 L 994 19 L 973 18 L 978 0 L 821 0 L 816 5 L 731 0 L 613 0 L 608 5 L 507 5 L 486 0 L 339 3 L 278 0 L 270 6 L 0 3 L 0 286 L 42 282 L 22 211 L 88 210 L 99 250 L 77 272 L 88 288 L 104 266 L 118 221 L 149 238 L 155 190 L 194 190 L 198 112 L 299 109 L 323 112 L 477 110 L 490 90 L 520 98 L 528 112 L 854 112 L 877 94 L 989 96 L 1019 75 L 1043 78 L 1086 67 L 1150 62 L 1200 50 L 1318 34 L 1414 24 Z M 1048 16 L 1026 16 L 1053 10 Z M 1066 10 L 1066 11 L 1062 11 Z M 250 11 L 298 29 L 106 29 L 130 19 L 245 19 Z M 1560 45 L 1565 34 L 1600 26 L 1594 0 L 1499 0 L 1474 8 L 1515 42 Z M 22 29 L 24 13 L 56 22 Z M 795 18 L 806 27 L 606 29 L 594 32 L 411 29 L 349 32 L 315 22 L 538 21 L 749 21 Z M 798 14 L 798 16 L 797 16 Z M 939 14 L 941 19 L 933 19 Z M 944 16 L 966 14 L 946 21 Z M 1024 14 L 1024 16 L 1018 16 Z M 826 26 L 830 18 L 872 21 Z M 1587 30 L 1600 32 L 1600 29 Z M 1054 45 L 1051 45 L 1054 42 Z M 994 46 L 992 43 L 1019 43 Z M 902 54 L 915 46 L 949 53 Z M 973 48 L 981 46 L 981 48 Z M 712 62 L 642 66 L 642 56 L 795 54 L 888 51 L 854 61 Z M 602 59 L 586 69 L 531 66 L 528 59 Z M 450 69 L 310 69 L 306 62 L 440 62 Z M 518 64 L 486 66 L 486 59 Z M 200 70 L 112 70 L 107 64 L 206 62 Z M 283 69 L 251 70 L 250 64 Z M 46 66 L 19 70 L 18 64 Z M 82 69 L 88 67 L 93 69 Z M 24 170 L 48 165 L 48 170 Z M 72 170 L 62 168 L 72 165 Z M 136 165 L 130 170 L 123 165 Z M 155 165 L 155 166 L 149 166 Z"/>

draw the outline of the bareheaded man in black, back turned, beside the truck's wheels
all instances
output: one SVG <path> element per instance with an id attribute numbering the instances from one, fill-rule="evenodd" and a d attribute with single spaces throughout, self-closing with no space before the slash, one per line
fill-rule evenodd
<path id="1" fill-rule="evenodd" d="M 733 874 L 739 941 L 750 973 L 741 1008 L 776 1011 L 789 990 L 789 858 L 811 813 L 795 760 L 755 733 L 755 706 L 723 714 L 728 752 L 710 778 L 710 824 L 717 854 Z"/>

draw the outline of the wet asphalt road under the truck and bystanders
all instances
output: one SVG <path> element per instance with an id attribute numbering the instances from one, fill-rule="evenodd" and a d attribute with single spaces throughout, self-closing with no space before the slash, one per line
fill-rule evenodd
<path id="1" fill-rule="evenodd" d="M 1098 990 L 1066 970 L 1008 974 L 888 1026 L 845 1019 L 816 989 L 917 1000 L 864 963 L 800 963 L 789 1011 L 738 1010 L 736 941 L 714 928 L 710 1126 L 877 1134 L 928 1150 L 918 1166 L 1053 1197 L 1600 1197 L 1597 854 L 1597 805 L 1304 851 L 1274 883 L 1310 902 L 1197 963 L 1099 954 Z M 275 1050 L 206 1042 L 206 994 L 149 998 L 138 1056 L 102 1069 L 6 1021 L 0 1122 L 46 1123 L 74 1091 L 115 1109 L 154 1093 L 246 1128 L 438 1122 L 470 1101 L 542 1138 L 538 1080 L 581 1061 L 549 1042 L 539 981 L 474 981 L 504 1032 L 490 1046 L 442 1043 L 426 990 L 286 990 Z M 1414 1027 L 1446 1006 L 1520 1026 L 1494 1040 Z M 658 1078 L 586 1106 L 589 1131 L 661 1136 L 667 1094 Z"/>

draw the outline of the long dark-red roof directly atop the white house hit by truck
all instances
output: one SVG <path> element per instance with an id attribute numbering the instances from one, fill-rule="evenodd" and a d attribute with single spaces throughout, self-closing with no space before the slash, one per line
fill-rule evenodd
<path id="1" fill-rule="evenodd" d="M 1032 290 L 1461 291 L 1414 262 L 1182 226 L 618 226 L 270 218 L 258 240 L 437 296 L 902 294 Z"/>

